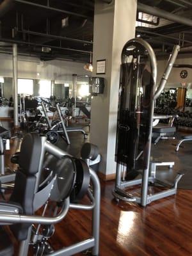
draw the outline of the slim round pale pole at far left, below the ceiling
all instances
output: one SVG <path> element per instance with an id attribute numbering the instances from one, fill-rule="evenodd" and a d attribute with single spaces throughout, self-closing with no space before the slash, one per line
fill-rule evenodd
<path id="1" fill-rule="evenodd" d="M 18 93 L 17 93 L 17 44 L 13 44 L 13 106 L 14 106 L 14 126 L 19 127 L 18 116 Z"/>

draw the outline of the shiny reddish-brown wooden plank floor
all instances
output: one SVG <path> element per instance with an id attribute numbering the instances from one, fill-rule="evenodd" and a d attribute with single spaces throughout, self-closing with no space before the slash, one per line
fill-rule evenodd
<path id="1" fill-rule="evenodd" d="M 13 144 L 12 152 L 17 147 L 19 143 Z M 192 255 L 191 190 L 179 189 L 177 195 L 142 208 L 116 204 L 111 195 L 113 188 L 113 181 L 101 181 L 100 256 Z M 91 212 L 70 210 L 56 225 L 51 245 L 59 249 L 88 238 L 90 220 Z"/>

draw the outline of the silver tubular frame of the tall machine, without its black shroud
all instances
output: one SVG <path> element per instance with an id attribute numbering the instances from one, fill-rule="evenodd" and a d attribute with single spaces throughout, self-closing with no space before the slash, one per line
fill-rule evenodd
<path id="1" fill-rule="evenodd" d="M 175 62 L 177 58 L 177 54 L 179 52 L 179 45 L 175 45 L 173 48 L 173 52 L 170 55 L 170 58 L 168 60 L 168 65 L 164 71 L 163 77 L 161 79 L 161 82 L 156 90 L 156 80 L 157 80 L 157 62 L 156 62 L 156 56 L 154 54 L 154 51 L 152 47 L 145 41 L 142 40 L 141 38 L 135 38 L 132 40 L 129 40 L 127 44 L 125 44 L 124 49 L 122 51 L 122 65 L 123 63 L 127 63 L 127 55 L 126 51 L 130 51 L 131 46 L 134 46 L 136 49 L 138 45 L 140 47 L 144 47 L 145 51 L 148 52 L 148 58 L 150 61 L 150 70 L 152 73 L 152 102 L 150 106 L 150 116 L 149 116 L 149 136 L 148 136 L 148 141 L 143 148 L 143 157 L 144 157 L 144 163 L 143 164 L 143 173 L 142 173 L 142 178 L 141 179 L 132 179 L 132 180 L 126 180 L 125 179 L 125 170 L 124 170 L 124 165 L 117 163 L 116 164 L 116 182 L 115 182 L 115 189 L 113 190 L 113 196 L 115 196 L 116 200 L 123 200 L 125 202 L 136 202 L 142 206 L 146 206 L 147 204 L 150 204 L 150 202 L 153 202 L 155 200 L 158 200 L 160 198 L 164 198 L 166 196 L 170 195 L 175 195 L 177 193 L 177 184 L 179 180 L 182 177 L 182 174 L 177 174 L 177 177 L 175 178 L 174 184 L 166 184 L 165 182 L 161 180 L 156 179 L 156 166 L 169 166 L 172 168 L 173 162 L 170 163 L 150 163 L 150 152 L 151 152 L 151 140 L 152 140 L 152 122 L 154 119 L 154 102 L 157 99 L 157 97 L 163 92 L 164 86 L 166 84 L 166 81 L 168 79 L 168 76 L 172 70 L 173 63 Z M 130 47 L 130 49 L 129 49 Z M 134 48 L 133 47 L 133 48 Z M 131 49 L 132 50 L 132 49 Z M 140 50 L 138 50 L 140 51 Z M 140 57 L 139 57 L 140 58 Z M 137 81 L 138 83 L 138 81 Z M 156 90 L 156 92 L 155 92 Z M 128 147 L 128 145 L 127 145 Z M 139 154 L 139 157 L 136 157 L 136 160 L 140 158 L 141 152 Z M 153 184 L 159 184 L 160 186 L 166 186 L 169 187 L 168 189 L 164 191 L 160 191 L 158 193 L 154 193 L 153 195 L 148 194 L 148 182 L 152 182 Z M 140 196 L 134 196 L 125 191 L 125 189 L 136 186 L 136 185 L 141 185 L 141 195 Z"/>

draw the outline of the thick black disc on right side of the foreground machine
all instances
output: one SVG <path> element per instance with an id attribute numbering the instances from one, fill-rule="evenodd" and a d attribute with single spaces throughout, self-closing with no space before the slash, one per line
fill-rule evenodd
<path id="1" fill-rule="evenodd" d="M 71 200 L 81 200 L 88 191 L 90 184 L 90 171 L 88 165 L 82 159 L 75 159 L 76 182 L 71 193 Z"/>

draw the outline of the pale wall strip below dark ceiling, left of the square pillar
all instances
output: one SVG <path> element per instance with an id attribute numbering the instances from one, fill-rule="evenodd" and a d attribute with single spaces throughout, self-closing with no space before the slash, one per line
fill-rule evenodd
<path id="1" fill-rule="evenodd" d="M 0 54 L 0 76 L 13 77 L 12 55 Z M 90 75 L 83 68 L 84 63 L 74 61 L 40 61 L 34 57 L 19 56 L 18 58 L 18 77 L 33 79 L 49 79 L 72 81 L 72 74 Z M 37 74 L 40 74 L 39 76 Z"/>

